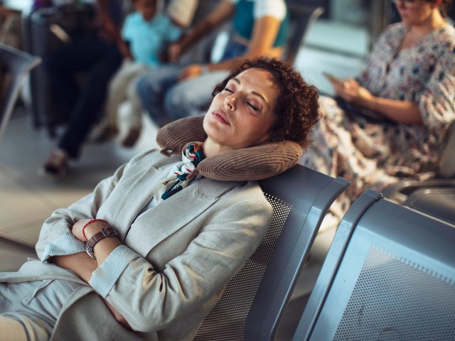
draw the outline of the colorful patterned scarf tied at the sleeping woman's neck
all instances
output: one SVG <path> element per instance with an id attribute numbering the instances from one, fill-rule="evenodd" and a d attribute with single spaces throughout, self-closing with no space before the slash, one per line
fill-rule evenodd
<path id="1" fill-rule="evenodd" d="M 202 175 L 198 174 L 197 171 L 191 175 L 198 163 L 205 158 L 201 146 L 202 144 L 198 142 L 191 142 L 183 147 L 183 166 L 180 168 L 175 166 L 171 175 L 156 184 L 154 188 L 155 198 L 161 197 L 162 200 L 166 200 L 171 195 L 186 188 L 191 180 L 202 178 Z M 195 174 L 196 176 L 194 176 Z"/>

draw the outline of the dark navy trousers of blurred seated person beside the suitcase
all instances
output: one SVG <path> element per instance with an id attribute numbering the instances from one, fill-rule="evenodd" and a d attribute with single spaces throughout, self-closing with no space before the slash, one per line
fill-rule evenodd
<path id="1" fill-rule="evenodd" d="M 58 143 L 77 158 L 80 148 L 105 102 L 107 85 L 122 63 L 117 45 L 97 36 L 74 40 L 44 58 L 53 93 L 68 114 L 68 126 Z M 82 89 L 75 82 L 77 72 L 87 72 Z"/>

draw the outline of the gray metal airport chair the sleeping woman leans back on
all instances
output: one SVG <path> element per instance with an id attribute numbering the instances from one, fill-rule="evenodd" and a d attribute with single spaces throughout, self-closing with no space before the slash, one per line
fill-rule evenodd
<path id="1" fill-rule="evenodd" d="M 297 165 L 260 185 L 272 204 L 269 231 L 200 326 L 200 340 L 273 340 L 311 244 L 343 178 Z"/>

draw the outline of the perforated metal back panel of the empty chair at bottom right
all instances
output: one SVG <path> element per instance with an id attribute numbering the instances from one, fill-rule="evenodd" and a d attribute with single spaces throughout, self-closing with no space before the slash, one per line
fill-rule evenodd
<path id="1" fill-rule="evenodd" d="M 455 340 L 453 269 L 389 249 L 370 245 L 333 340 Z"/>

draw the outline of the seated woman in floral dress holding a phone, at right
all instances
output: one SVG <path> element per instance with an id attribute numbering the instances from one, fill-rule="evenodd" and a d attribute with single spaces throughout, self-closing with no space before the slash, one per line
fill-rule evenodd
<path id="1" fill-rule="evenodd" d="M 338 217 L 367 188 L 432 178 L 455 120 L 455 29 L 444 19 L 451 0 L 394 2 L 402 21 L 382 33 L 360 81 L 332 82 L 346 102 L 389 121 L 346 114 L 321 97 L 314 143 L 299 162 L 351 181 L 331 207 Z"/>

